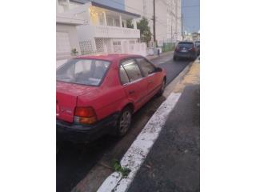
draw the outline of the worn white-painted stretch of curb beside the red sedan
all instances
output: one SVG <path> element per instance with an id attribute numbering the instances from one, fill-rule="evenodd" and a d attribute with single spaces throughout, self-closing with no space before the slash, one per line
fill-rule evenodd
<path id="1" fill-rule="evenodd" d="M 102 183 L 102 186 L 99 187 L 98 192 L 124 192 L 129 189 L 138 169 L 142 166 L 142 163 L 146 159 L 146 155 L 150 152 L 154 142 L 157 140 L 170 111 L 174 109 L 180 96 L 181 93 L 172 93 L 166 98 L 165 102 L 162 102 L 162 105 L 159 106 L 149 122 L 146 123 L 146 126 L 142 129 L 142 132 L 138 134 L 138 137 L 130 146 L 129 150 L 126 151 L 120 164 L 122 167 L 131 170 L 127 178 L 122 178 L 122 174 L 114 172 L 106 178 Z"/>

